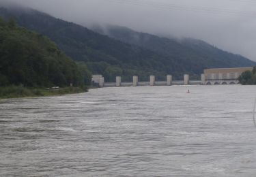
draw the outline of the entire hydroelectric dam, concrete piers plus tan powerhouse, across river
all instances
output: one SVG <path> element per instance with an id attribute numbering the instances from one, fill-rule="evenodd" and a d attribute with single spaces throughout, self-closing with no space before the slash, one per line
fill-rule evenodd
<path id="1" fill-rule="evenodd" d="M 139 82 L 138 76 L 133 76 L 132 82 L 122 82 L 121 76 L 117 76 L 115 82 L 104 82 L 104 76 L 93 75 L 92 82 L 99 87 L 239 84 L 239 76 L 247 70 L 251 71 L 253 67 L 205 69 L 201 80 L 190 80 L 188 74 L 184 74 L 184 80 L 173 80 L 167 75 L 165 81 L 157 81 L 155 76 L 150 76 L 148 82 Z"/>

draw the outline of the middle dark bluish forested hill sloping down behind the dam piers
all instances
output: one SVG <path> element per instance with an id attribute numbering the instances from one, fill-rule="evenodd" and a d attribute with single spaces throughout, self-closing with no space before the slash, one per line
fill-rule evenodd
<path id="1" fill-rule="evenodd" d="M 47 35 L 72 59 L 85 61 L 93 74 L 103 74 L 106 81 L 115 81 L 115 76 L 122 76 L 122 80 L 132 80 L 132 76 L 137 75 L 140 80 L 148 80 L 151 74 L 164 79 L 166 74 L 177 77 L 186 72 L 201 73 L 199 70 L 185 71 L 175 59 L 124 44 L 35 10 L 2 7 L 0 16 L 14 17 L 19 25 Z"/>

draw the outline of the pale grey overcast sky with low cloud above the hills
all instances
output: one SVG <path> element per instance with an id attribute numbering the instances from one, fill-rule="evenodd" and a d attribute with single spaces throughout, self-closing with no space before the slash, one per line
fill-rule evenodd
<path id="1" fill-rule="evenodd" d="M 255 0 L 5 1 L 81 25 L 121 25 L 147 33 L 203 39 L 256 61 Z"/>

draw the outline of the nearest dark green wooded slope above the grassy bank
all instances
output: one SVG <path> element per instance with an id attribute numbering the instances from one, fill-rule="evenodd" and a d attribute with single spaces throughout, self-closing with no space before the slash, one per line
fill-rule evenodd
<path id="1" fill-rule="evenodd" d="M 48 37 L 0 18 L 0 86 L 83 86 L 90 78 Z"/>

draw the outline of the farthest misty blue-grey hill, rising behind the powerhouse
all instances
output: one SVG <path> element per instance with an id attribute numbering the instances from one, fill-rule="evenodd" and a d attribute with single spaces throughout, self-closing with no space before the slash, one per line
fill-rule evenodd
<path id="1" fill-rule="evenodd" d="M 184 65 L 186 69 L 195 67 L 193 64 L 201 65 L 203 68 L 248 67 L 255 65 L 255 62 L 245 57 L 223 51 L 198 39 L 158 37 L 113 25 L 106 27 L 95 26 L 92 29 L 122 42 L 141 46 L 166 57 L 177 59 L 182 63 L 188 63 L 188 65 Z"/>

